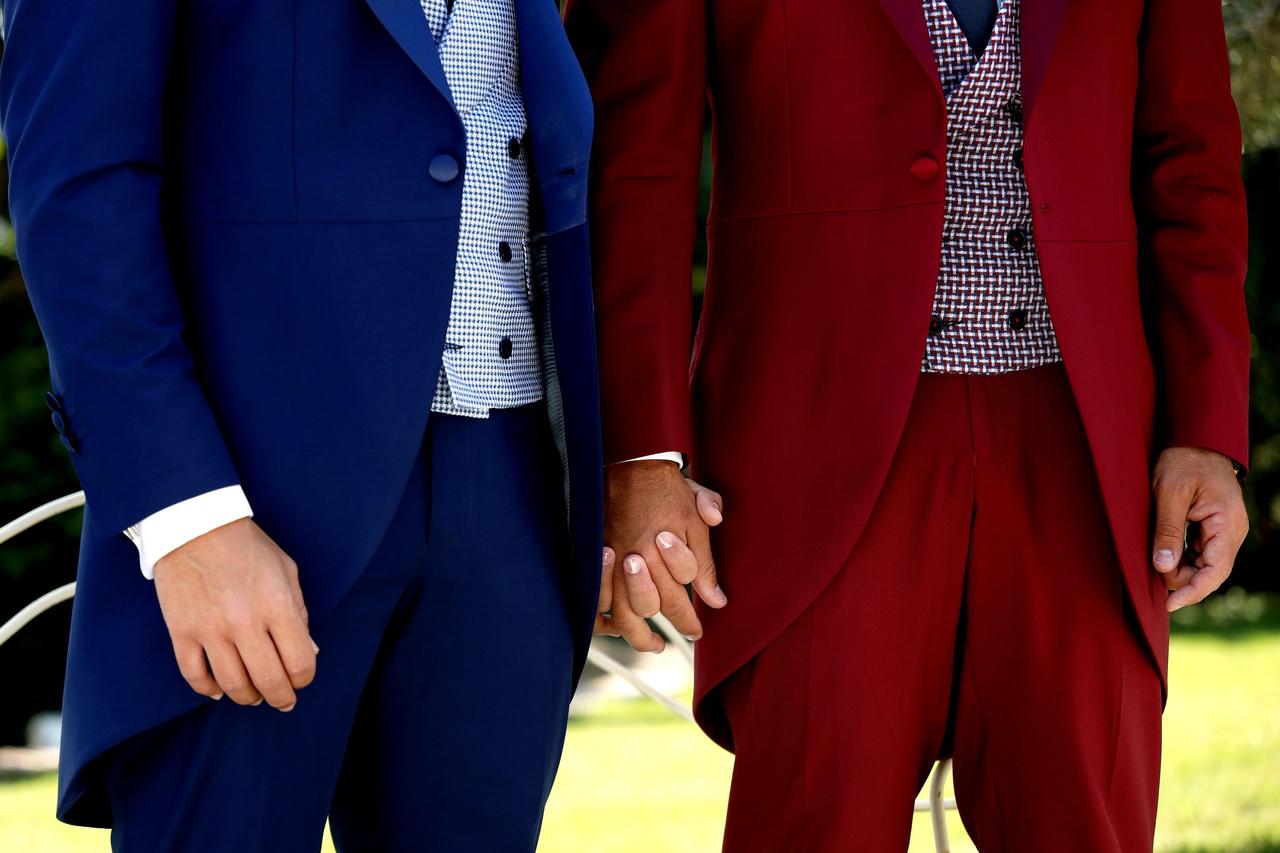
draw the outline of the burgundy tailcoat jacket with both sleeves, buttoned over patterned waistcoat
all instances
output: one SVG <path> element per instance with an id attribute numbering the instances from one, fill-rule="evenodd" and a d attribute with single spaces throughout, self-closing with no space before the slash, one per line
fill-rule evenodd
<path id="1" fill-rule="evenodd" d="M 696 701 L 730 745 L 707 698 L 845 562 L 911 402 L 946 179 L 933 51 L 920 0 L 570 0 L 567 19 L 596 105 L 605 452 L 685 451 L 724 493 L 714 547 L 730 605 L 701 612 Z M 1248 447 L 1221 4 L 1025 0 L 1023 78 L 1046 296 L 1164 674 L 1153 453 L 1244 461 Z M 710 256 L 690 352 L 708 101 Z"/>

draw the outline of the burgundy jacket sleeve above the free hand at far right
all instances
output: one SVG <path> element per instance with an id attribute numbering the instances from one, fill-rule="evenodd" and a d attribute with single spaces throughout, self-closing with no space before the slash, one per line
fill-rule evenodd
<path id="1" fill-rule="evenodd" d="M 1248 460 L 1248 225 L 1219 0 L 1149 0 L 1134 201 L 1164 401 L 1164 447 Z"/>

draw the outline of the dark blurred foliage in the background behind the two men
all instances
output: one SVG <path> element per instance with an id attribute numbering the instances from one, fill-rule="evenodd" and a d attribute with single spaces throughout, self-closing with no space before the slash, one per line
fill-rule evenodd
<path id="1" fill-rule="evenodd" d="M 1252 473 L 1245 487 L 1253 532 L 1235 583 L 1280 589 L 1280 0 L 1228 0 L 1224 5 L 1234 87 L 1245 138 L 1249 191 L 1249 311 L 1253 347 Z M 710 155 L 704 156 L 705 222 Z M 0 523 L 38 503 L 74 492 L 78 484 L 49 425 L 44 392 L 47 360 L 14 261 L 9 227 L 8 172 L 0 168 Z M 694 274 L 700 291 L 705 245 L 699 242 Z M 74 578 L 78 517 L 0 547 L 0 619 L 37 594 Z M 44 616 L 0 648 L 0 671 L 20 684 L 23 702 L 0 704 L 0 743 L 20 742 L 33 711 L 60 704 L 67 608 Z"/>

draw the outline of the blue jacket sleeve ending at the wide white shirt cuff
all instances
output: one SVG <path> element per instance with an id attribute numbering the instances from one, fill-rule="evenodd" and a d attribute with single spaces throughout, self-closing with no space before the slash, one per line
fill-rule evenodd
<path id="1" fill-rule="evenodd" d="M 0 122 L 54 423 L 97 529 L 238 483 L 164 237 L 178 0 L 4 0 Z"/>

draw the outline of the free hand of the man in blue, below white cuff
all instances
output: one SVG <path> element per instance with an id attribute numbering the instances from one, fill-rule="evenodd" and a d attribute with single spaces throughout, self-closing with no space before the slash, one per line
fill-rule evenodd
<path id="1" fill-rule="evenodd" d="M 307 629 L 298 567 L 253 521 L 233 521 L 163 557 L 155 584 L 191 689 L 293 710 L 320 649 Z"/>

